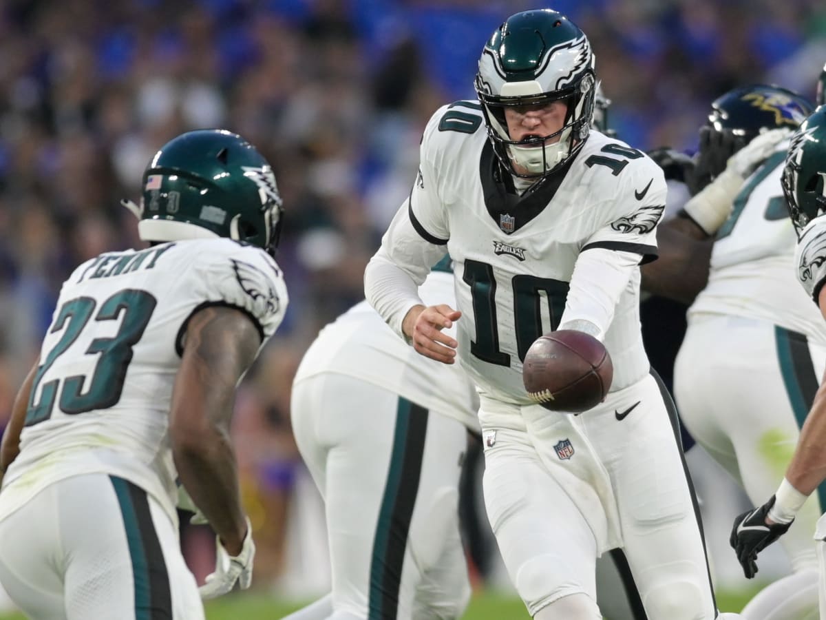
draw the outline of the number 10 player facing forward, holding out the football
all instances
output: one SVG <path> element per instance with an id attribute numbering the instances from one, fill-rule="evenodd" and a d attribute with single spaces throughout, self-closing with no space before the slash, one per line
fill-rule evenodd
<path id="1" fill-rule="evenodd" d="M 487 516 L 531 616 L 602 618 L 596 557 L 621 547 L 650 620 L 717 618 L 672 403 L 639 331 L 662 170 L 590 130 L 594 55 L 558 12 L 509 17 L 476 89 L 426 127 L 411 196 L 366 269 L 368 301 L 422 355 L 458 355 L 477 385 Z M 448 253 L 456 309 L 417 289 Z M 596 336 L 615 366 L 605 402 L 578 416 L 522 384 L 525 351 L 558 328 Z"/>

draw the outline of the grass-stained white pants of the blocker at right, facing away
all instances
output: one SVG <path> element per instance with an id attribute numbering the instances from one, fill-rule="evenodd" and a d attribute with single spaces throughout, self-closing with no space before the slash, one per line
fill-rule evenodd
<path id="1" fill-rule="evenodd" d="M 769 322 L 692 322 L 677 358 L 675 393 L 691 435 L 743 483 L 755 505 L 777 488 L 826 360 L 823 347 Z M 814 568 L 819 489 L 780 542 L 795 570 Z"/>

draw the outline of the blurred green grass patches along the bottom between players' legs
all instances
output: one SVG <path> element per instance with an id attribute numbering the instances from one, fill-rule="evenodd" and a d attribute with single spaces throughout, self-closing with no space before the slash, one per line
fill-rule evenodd
<path id="1" fill-rule="evenodd" d="M 758 588 L 759 589 L 759 588 Z M 738 612 L 753 592 L 717 593 L 721 611 Z M 207 604 L 208 620 L 278 620 L 305 603 L 288 603 L 262 594 L 231 594 Z M 21 614 L 0 614 L 0 620 L 25 620 Z M 474 594 L 463 620 L 529 620 L 519 599 L 490 592 Z"/>

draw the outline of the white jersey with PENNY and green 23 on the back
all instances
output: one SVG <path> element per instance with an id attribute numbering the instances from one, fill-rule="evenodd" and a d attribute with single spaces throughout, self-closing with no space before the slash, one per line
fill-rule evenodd
<path id="1" fill-rule="evenodd" d="M 281 270 L 263 250 L 225 238 L 110 252 L 75 269 L 43 341 L 2 505 L 11 511 L 60 479 L 105 472 L 174 515 L 169 406 L 187 322 L 214 305 L 249 315 L 263 345 L 287 308 Z"/>

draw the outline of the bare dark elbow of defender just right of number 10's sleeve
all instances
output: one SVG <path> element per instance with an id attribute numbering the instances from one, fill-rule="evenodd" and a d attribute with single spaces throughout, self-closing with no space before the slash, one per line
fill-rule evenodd
<path id="1" fill-rule="evenodd" d="M 709 280 L 711 241 L 694 222 L 674 217 L 657 227 L 659 257 L 640 271 L 648 293 L 691 304 Z"/>

